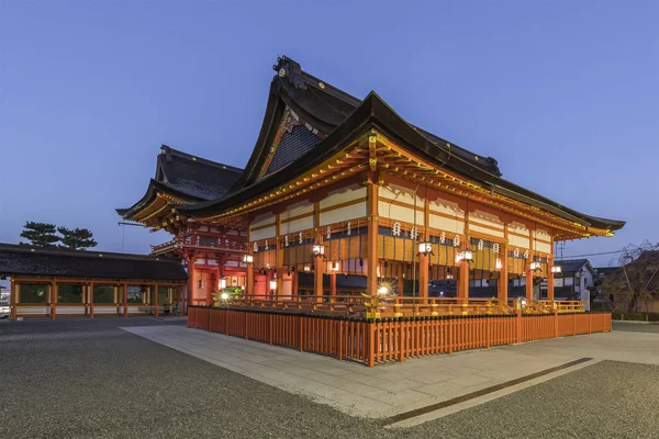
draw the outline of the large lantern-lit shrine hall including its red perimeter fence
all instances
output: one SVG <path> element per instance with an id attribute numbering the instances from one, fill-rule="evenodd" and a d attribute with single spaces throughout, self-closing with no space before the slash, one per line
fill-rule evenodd
<path id="1" fill-rule="evenodd" d="M 554 247 L 624 222 L 503 179 L 376 92 L 288 57 L 273 69 L 245 169 L 163 146 L 145 195 L 118 210 L 171 234 L 153 254 L 186 266 L 190 327 L 368 365 L 611 330 L 555 300 Z"/>

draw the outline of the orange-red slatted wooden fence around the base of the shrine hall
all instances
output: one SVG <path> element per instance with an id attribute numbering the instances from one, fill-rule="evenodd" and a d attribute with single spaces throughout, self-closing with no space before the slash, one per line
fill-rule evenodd
<path id="1" fill-rule="evenodd" d="M 384 361 L 611 330 L 611 314 L 367 320 L 191 306 L 188 327 L 375 365 Z"/>

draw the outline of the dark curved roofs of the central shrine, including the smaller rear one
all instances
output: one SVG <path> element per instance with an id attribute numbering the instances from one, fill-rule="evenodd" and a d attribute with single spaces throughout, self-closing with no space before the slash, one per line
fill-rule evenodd
<path id="1" fill-rule="evenodd" d="M 193 217 L 220 214 L 310 171 L 370 130 L 410 153 L 472 180 L 492 194 L 530 204 L 585 227 L 616 230 L 623 221 L 587 215 L 501 178 L 498 161 L 421 130 L 396 114 L 378 94 L 359 100 L 278 58 L 261 130 L 252 156 L 241 169 L 196 158 L 166 145 L 156 178 L 124 218 L 150 203 L 158 191 L 188 202 L 177 212 Z M 231 189 L 230 189 L 231 188 Z"/>

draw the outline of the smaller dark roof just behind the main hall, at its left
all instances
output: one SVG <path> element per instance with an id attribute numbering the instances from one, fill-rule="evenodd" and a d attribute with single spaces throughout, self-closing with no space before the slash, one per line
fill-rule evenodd
<path id="1" fill-rule="evenodd" d="M 224 195 L 243 170 L 161 146 L 156 180 L 196 199 L 213 200 Z"/>

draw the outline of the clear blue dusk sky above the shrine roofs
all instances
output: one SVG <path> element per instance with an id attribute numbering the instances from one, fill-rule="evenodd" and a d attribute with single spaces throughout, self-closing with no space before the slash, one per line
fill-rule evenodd
<path id="1" fill-rule="evenodd" d="M 659 2 L 399 3 L 0 0 L 0 241 L 38 221 L 121 251 L 114 209 L 144 194 L 160 144 L 245 166 L 283 54 L 628 222 L 566 256 L 659 241 Z M 126 227 L 124 250 L 166 239 Z"/>

